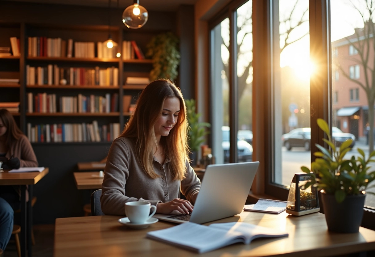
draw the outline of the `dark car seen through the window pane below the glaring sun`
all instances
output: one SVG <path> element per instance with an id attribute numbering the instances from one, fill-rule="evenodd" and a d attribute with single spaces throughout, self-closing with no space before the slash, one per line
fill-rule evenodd
<path id="1" fill-rule="evenodd" d="M 311 129 L 299 128 L 291 130 L 289 133 L 282 135 L 283 145 L 287 150 L 292 147 L 304 147 L 306 151 L 310 150 Z"/>

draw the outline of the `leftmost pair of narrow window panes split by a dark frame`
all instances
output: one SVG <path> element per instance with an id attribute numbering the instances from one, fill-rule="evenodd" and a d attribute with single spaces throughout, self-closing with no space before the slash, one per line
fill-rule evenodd
<path id="1" fill-rule="evenodd" d="M 215 138 L 212 143 L 216 163 L 248 162 L 253 154 L 252 1 L 231 10 L 235 17 L 219 19 L 210 33 L 211 109 L 214 110 L 211 119 Z M 229 12 L 227 16 L 232 17 Z M 229 26 L 237 27 L 234 45 L 230 40 L 233 30 L 230 32 Z M 237 65 L 230 69 L 233 62 Z M 231 140 L 231 128 L 235 129 L 234 140 Z M 231 154 L 233 141 L 236 154 Z"/>

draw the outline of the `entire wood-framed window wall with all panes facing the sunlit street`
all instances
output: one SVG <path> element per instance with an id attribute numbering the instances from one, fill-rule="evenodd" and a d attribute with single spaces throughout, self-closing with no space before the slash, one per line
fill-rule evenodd
<path id="1" fill-rule="evenodd" d="M 356 155 L 357 146 L 366 154 L 373 149 L 365 130 L 375 123 L 368 103 L 368 94 L 375 95 L 375 17 L 366 2 L 233 0 L 211 21 L 214 155 L 218 163 L 240 161 L 233 147 L 245 140 L 242 131 L 254 133 L 249 142 L 261 179 L 253 189 L 260 194 L 286 200 L 293 175 L 311 165 L 315 144 L 324 144 L 317 118 L 336 134 L 355 136 L 348 154 Z M 228 137 L 234 145 L 224 159 Z M 365 205 L 374 211 L 375 197 L 368 195 Z"/>

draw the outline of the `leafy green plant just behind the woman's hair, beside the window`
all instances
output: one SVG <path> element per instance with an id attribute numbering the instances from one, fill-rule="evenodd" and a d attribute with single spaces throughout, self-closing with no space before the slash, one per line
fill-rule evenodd
<path id="1" fill-rule="evenodd" d="M 200 113 L 196 113 L 195 110 L 195 100 L 186 99 L 186 112 L 187 112 L 187 122 L 189 123 L 189 148 L 190 151 L 198 151 L 200 145 L 204 142 L 204 136 L 210 132 L 206 131 L 206 127 L 211 127 L 208 122 L 199 122 Z"/>

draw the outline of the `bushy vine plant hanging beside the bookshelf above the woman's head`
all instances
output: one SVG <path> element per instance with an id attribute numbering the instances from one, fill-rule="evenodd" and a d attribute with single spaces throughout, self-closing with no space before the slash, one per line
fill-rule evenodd
<path id="1" fill-rule="evenodd" d="M 152 57 L 153 69 L 150 80 L 168 78 L 174 81 L 178 75 L 180 64 L 178 38 L 172 32 L 154 36 L 147 44 L 147 57 Z"/>

